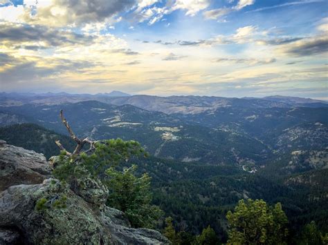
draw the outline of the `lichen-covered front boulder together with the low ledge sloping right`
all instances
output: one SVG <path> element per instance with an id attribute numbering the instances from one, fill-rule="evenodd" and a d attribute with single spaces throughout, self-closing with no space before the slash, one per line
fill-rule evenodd
<path id="1" fill-rule="evenodd" d="M 11 186 L 0 193 L 0 217 L 2 233 L 25 244 L 168 243 L 158 231 L 129 227 L 124 214 L 116 209 L 105 207 L 95 212 L 55 179 Z"/>

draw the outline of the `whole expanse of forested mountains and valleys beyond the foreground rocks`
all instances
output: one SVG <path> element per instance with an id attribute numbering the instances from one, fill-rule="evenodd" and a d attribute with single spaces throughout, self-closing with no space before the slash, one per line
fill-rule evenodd
<path id="1" fill-rule="evenodd" d="M 328 104 L 296 97 L 1 94 L 0 139 L 57 155 L 79 137 L 134 139 L 150 153 L 154 204 L 176 228 L 208 224 L 226 236 L 226 210 L 241 198 L 282 202 L 291 226 L 328 231 Z"/>

